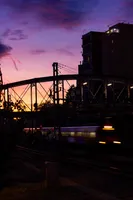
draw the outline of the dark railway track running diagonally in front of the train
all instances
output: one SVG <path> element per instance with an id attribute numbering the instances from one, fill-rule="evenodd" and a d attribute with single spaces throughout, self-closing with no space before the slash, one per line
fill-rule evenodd
<path id="1" fill-rule="evenodd" d="M 42 161 L 51 161 L 49 160 L 50 153 L 37 151 L 29 148 L 25 148 L 23 146 L 16 146 L 19 152 L 24 153 L 24 156 L 28 156 L 30 159 L 37 158 L 37 160 Z M 55 162 L 56 160 L 54 160 Z M 132 163 L 133 164 L 133 163 Z M 121 166 L 121 163 L 115 164 L 113 162 L 99 162 L 93 159 L 82 159 L 75 157 L 66 157 L 65 159 L 60 161 L 61 166 L 70 166 L 70 167 L 79 167 L 79 168 L 91 168 L 94 170 L 99 170 L 105 173 L 112 173 L 120 176 L 125 176 L 128 178 L 133 178 L 133 170 L 132 168 L 127 169 L 126 167 Z"/>

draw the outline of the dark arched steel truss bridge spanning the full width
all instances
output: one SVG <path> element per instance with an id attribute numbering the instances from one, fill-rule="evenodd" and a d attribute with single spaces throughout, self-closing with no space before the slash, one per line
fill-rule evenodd
<path id="1" fill-rule="evenodd" d="M 0 91 L 4 96 L 4 101 L 21 101 L 23 106 L 28 108 L 30 111 L 38 110 L 38 95 L 42 97 L 41 103 L 44 100 L 51 99 L 53 101 L 53 87 L 46 89 L 43 86 L 43 82 L 53 83 L 54 80 L 58 80 L 61 85 L 64 85 L 64 81 L 77 80 L 78 87 L 81 91 L 81 102 L 87 102 L 88 104 L 100 104 L 100 103 L 109 103 L 109 104 L 125 104 L 133 103 L 133 80 L 126 80 L 119 77 L 98 77 L 98 76 L 79 76 L 78 74 L 70 75 L 58 75 L 50 77 L 40 77 L 35 79 L 29 79 L 14 83 L 9 83 L 0 86 Z M 86 84 L 85 84 L 86 83 Z M 15 88 L 18 86 L 26 85 L 23 92 L 19 95 Z M 38 86 L 43 89 L 43 93 L 39 91 Z M 30 90 L 30 105 L 27 105 L 27 102 L 23 100 L 27 91 Z M 34 94 L 33 94 L 34 90 Z M 11 95 L 10 91 L 13 91 L 15 95 Z M 60 100 L 65 99 L 65 89 L 62 86 L 61 90 L 62 97 Z M 34 101 L 33 101 L 34 96 Z M 11 99 L 10 99 L 11 98 Z M 35 108 L 33 108 L 35 104 Z"/>

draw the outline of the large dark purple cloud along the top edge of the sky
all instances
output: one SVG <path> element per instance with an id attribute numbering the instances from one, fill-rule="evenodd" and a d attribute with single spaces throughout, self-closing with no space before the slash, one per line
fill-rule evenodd
<path id="1" fill-rule="evenodd" d="M 90 18 L 99 0 L 1 0 L 15 19 L 27 16 L 50 27 L 73 29 Z M 27 22 L 28 23 L 28 22 Z"/>

